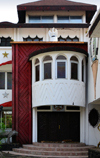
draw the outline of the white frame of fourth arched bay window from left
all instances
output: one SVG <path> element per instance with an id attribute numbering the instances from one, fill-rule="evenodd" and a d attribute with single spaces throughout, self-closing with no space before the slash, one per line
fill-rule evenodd
<path id="1" fill-rule="evenodd" d="M 72 57 L 76 57 L 76 56 L 73 55 L 73 56 L 71 56 L 71 58 Z M 79 60 L 78 60 L 77 57 L 76 58 L 77 58 L 78 61 L 71 60 L 71 58 L 70 58 L 70 79 L 71 80 L 79 80 Z M 71 64 L 72 63 L 77 64 L 77 79 L 71 78 L 71 76 L 72 76 L 72 71 L 71 71 L 71 66 L 72 65 Z"/>

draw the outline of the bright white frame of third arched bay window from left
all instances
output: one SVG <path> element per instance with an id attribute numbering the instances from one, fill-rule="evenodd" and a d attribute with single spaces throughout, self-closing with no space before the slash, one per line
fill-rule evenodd
<path id="1" fill-rule="evenodd" d="M 64 56 L 66 59 L 57 59 L 59 56 L 64 56 L 64 55 L 58 55 L 56 57 L 56 79 L 67 79 L 67 58 Z M 57 77 L 57 73 L 58 73 L 57 63 L 59 63 L 59 62 L 64 62 L 65 63 L 65 78 L 58 78 Z"/>

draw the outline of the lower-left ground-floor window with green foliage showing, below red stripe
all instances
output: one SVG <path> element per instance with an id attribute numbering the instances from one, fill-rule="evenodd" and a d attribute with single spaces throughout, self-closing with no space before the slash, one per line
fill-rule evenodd
<path id="1" fill-rule="evenodd" d="M 12 128 L 12 111 L 2 111 L 0 114 L 1 127 L 4 123 L 5 128 Z"/>

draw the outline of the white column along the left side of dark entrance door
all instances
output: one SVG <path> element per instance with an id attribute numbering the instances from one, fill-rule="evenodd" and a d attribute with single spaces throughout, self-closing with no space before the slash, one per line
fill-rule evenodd
<path id="1" fill-rule="evenodd" d="M 37 108 L 32 110 L 32 143 L 37 142 Z"/>

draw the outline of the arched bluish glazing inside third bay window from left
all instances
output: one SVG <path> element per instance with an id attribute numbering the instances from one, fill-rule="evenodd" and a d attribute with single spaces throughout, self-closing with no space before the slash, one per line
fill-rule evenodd
<path id="1" fill-rule="evenodd" d="M 66 78 L 66 61 L 63 55 L 57 57 L 57 78 Z"/>

